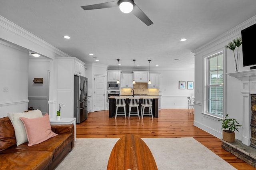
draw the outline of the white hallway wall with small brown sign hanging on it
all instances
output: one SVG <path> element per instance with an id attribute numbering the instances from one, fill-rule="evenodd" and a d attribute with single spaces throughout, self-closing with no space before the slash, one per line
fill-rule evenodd
<path id="1" fill-rule="evenodd" d="M 50 59 L 29 59 L 28 65 L 28 107 L 39 109 L 43 114 L 49 112 L 49 74 Z M 43 78 L 42 84 L 34 83 L 34 78 Z"/>

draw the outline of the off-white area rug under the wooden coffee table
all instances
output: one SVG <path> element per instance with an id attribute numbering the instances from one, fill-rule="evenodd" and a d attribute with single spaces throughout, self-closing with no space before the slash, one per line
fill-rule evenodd
<path id="1" fill-rule="evenodd" d="M 56 170 L 106 170 L 119 138 L 76 138 L 73 150 Z M 158 170 L 235 170 L 194 138 L 142 138 Z"/>

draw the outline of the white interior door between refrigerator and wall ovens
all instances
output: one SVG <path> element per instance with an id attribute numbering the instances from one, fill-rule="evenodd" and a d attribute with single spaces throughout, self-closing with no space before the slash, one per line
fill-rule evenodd
<path id="1" fill-rule="evenodd" d="M 94 75 L 94 111 L 105 110 L 106 77 Z"/>

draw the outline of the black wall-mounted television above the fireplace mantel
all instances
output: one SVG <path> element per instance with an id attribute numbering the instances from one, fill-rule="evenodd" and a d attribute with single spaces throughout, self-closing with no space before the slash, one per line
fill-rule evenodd
<path id="1" fill-rule="evenodd" d="M 244 66 L 256 65 L 256 24 L 245 28 L 241 34 Z"/>

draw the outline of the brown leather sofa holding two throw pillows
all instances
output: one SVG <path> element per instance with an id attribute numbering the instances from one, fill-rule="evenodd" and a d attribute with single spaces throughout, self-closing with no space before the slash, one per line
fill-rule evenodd
<path id="1" fill-rule="evenodd" d="M 53 170 L 74 147 L 74 125 L 51 125 L 58 133 L 40 144 L 16 145 L 15 133 L 8 117 L 0 119 L 1 170 Z"/>

